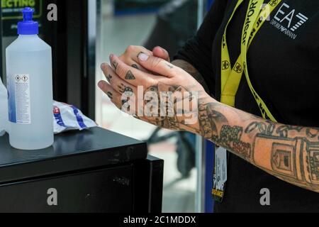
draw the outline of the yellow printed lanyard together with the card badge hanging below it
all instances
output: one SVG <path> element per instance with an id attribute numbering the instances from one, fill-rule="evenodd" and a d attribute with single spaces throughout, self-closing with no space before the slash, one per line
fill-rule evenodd
<path id="1" fill-rule="evenodd" d="M 276 119 L 274 118 L 274 116 L 272 116 L 272 113 L 267 108 L 267 105 L 252 87 L 247 69 L 247 50 L 250 47 L 255 35 L 264 24 L 264 21 L 269 18 L 270 13 L 274 11 L 281 0 L 271 0 L 268 4 L 264 4 L 264 0 L 250 0 L 245 17 L 245 24 L 242 28 L 240 56 L 237 58 L 237 61 L 232 67 L 230 63 L 230 55 L 228 52 L 226 33 L 230 21 L 232 21 L 235 12 L 243 1 L 244 0 L 237 1 L 235 9 L 230 16 L 230 19 L 228 20 L 228 23 L 225 26 L 225 31 L 223 33 L 223 40 L 221 45 L 220 102 L 222 102 L 223 104 L 227 104 L 228 106 L 235 107 L 235 96 L 238 91 L 240 80 L 242 79 L 242 74 L 245 72 L 247 84 L 250 87 L 250 91 L 252 92 L 254 99 L 257 102 L 263 118 L 276 122 Z M 225 148 L 217 148 L 215 152 L 215 167 L 213 174 L 214 183 L 212 190 L 213 198 L 216 201 L 223 201 L 223 196 L 225 195 L 228 168 L 227 166 L 227 150 Z"/>

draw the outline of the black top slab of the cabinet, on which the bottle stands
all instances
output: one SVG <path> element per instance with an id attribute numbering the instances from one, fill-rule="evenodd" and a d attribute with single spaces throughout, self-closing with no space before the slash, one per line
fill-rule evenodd
<path id="1" fill-rule="evenodd" d="M 0 138 L 0 183 L 146 157 L 146 143 L 97 127 L 55 135 L 54 145 L 43 150 L 16 150 L 4 135 Z"/>

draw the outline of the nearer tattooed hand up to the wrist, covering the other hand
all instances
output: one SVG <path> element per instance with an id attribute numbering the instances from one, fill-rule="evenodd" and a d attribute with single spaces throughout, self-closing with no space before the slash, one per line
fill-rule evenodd
<path id="1" fill-rule="evenodd" d="M 138 67 L 115 55 L 110 57 L 111 65 L 101 65 L 109 84 L 101 81 L 99 87 L 111 101 L 119 109 L 156 126 L 199 129 L 198 99 L 209 97 L 201 84 L 186 71 L 150 52 L 139 52 L 132 59 Z"/>

